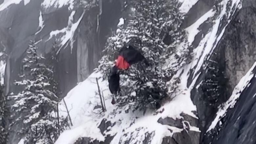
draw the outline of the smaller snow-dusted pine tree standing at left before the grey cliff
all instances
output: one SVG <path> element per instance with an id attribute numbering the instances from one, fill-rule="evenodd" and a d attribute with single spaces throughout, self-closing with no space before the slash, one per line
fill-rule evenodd
<path id="1" fill-rule="evenodd" d="M 12 109 L 14 123 L 22 124 L 21 133 L 26 144 L 53 144 L 67 120 L 58 120 L 56 106 L 59 101 L 55 95 L 53 70 L 42 63 L 44 57 L 38 56 L 37 47 L 31 42 L 23 59 L 22 81 L 15 82 L 24 89 L 15 97 Z"/>

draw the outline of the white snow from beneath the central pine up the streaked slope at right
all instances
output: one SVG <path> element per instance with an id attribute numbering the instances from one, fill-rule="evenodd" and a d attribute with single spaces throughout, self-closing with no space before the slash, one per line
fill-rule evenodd
<path id="1" fill-rule="evenodd" d="M 187 3 L 184 1 L 181 6 L 183 12 L 187 12 L 193 4 L 197 1 Z M 191 90 L 195 85 L 195 82 L 200 74 L 200 69 L 205 67 L 203 62 L 209 58 L 212 51 L 216 47 L 217 43 L 221 39 L 225 27 L 232 19 L 234 11 L 232 9 L 240 9 L 240 0 L 232 0 L 230 7 L 227 6 L 228 0 L 222 2 L 223 8 L 219 14 L 214 10 L 209 10 L 200 19 L 198 19 L 193 25 L 186 28 L 188 32 L 188 42 L 192 44 L 195 35 L 199 32 L 199 26 L 205 22 L 208 18 L 212 19 L 213 27 L 202 38 L 199 46 L 193 51 L 193 60 L 190 64 L 183 66 L 177 74 L 173 77 L 179 77 L 181 83 L 179 85 L 179 93 L 171 95 L 173 99 L 167 101 L 159 110 L 152 112 L 147 111 L 145 115 L 142 112 L 127 112 L 124 108 L 117 108 L 111 104 L 111 94 L 108 91 L 107 81 L 99 80 L 99 86 L 101 92 L 105 97 L 107 112 L 101 112 L 101 109 L 94 109 L 100 105 L 98 96 L 98 90 L 96 85 L 96 77 L 100 77 L 100 73 L 93 73 L 85 81 L 79 83 L 73 90 L 71 90 L 64 98 L 67 106 L 70 110 L 70 115 L 74 126 L 71 130 L 67 130 L 60 135 L 55 144 L 72 144 L 79 137 L 89 137 L 91 141 L 104 141 L 106 137 L 112 136 L 113 140 L 111 144 L 117 144 L 119 142 L 124 143 L 129 141 L 132 143 L 143 143 L 146 140 L 147 135 L 151 135 L 150 142 L 152 144 L 160 144 L 164 137 L 173 136 L 175 133 L 180 133 L 183 129 L 162 125 L 158 121 L 160 118 L 173 118 L 182 119 L 183 125 L 186 120 L 182 117 L 182 113 L 198 118 L 195 115 L 197 111 L 196 106 L 193 104 L 190 98 Z M 227 8 L 228 7 L 228 8 Z M 227 23 L 222 25 L 222 18 L 227 17 Z M 182 45 L 180 50 L 184 49 Z M 194 68 L 194 74 L 192 83 L 187 87 L 188 77 L 190 70 Z M 245 76 L 247 77 L 247 76 Z M 248 76 L 249 77 L 249 76 Z M 239 84 L 238 87 L 240 87 Z M 236 91 L 236 90 L 235 90 Z M 235 93 L 235 92 L 234 92 Z M 67 115 L 65 112 L 65 106 L 61 103 L 60 109 L 63 115 Z M 101 132 L 100 123 L 102 120 L 110 121 L 111 125 L 107 128 L 107 131 Z M 218 119 L 218 117 L 216 118 Z M 184 126 L 185 127 L 185 126 Z M 212 126 L 214 127 L 214 125 Z M 200 132 L 198 127 L 189 124 L 189 130 Z"/>

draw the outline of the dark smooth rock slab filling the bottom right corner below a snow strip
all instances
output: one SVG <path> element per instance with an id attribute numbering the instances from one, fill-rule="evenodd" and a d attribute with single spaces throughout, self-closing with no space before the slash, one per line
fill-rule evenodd
<path id="1" fill-rule="evenodd" d="M 255 75 L 256 68 L 253 73 Z M 228 109 L 226 116 L 221 119 L 222 125 L 217 124 L 212 133 L 207 134 L 203 143 L 212 144 L 254 144 L 256 142 L 256 81 L 255 77 L 251 84 L 241 93 L 233 109 Z"/>

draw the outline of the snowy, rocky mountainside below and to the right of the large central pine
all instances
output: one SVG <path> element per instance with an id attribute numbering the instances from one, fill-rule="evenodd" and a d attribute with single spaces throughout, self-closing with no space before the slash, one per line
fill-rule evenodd
<path id="1" fill-rule="evenodd" d="M 194 58 L 191 64 L 184 66 L 176 75 L 181 79 L 180 93 L 173 95 L 172 101 L 166 101 L 158 111 L 147 112 L 144 116 L 139 112 L 125 111 L 125 108 L 120 110 L 109 105 L 107 112 L 99 113 L 100 110 L 96 109 L 99 98 L 93 93 L 97 88 L 90 92 L 83 90 L 83 87 L 93 85 L 95 78 L 100 76 L 99 73 L 94 73 L 66 97 L 66 101 L 74 109 L 71 113 L 77 125 L 73 130 L 64 132 L 56 143 L 75 142 L 78 137 L 84 137 L 80 139 L 81 143 L 254 143 L 254 128 L 248 127 L 255 123 L 253 116 L 251 120 L 244 116 L 244 120 L 241 118 L 242 122 L 239 123 L 235 119 L 226 118 L 229 115 L 238 117 L 239 114 L 235 113 L 240 111 L 232 112 L 231 108 L 239 105 L 239 97 L 249 97 L 247 94 L 252 98 L 254 96 L 250 88 L 253 87 L 255 67 L 253 3 L 222 1 L 221 6 L 218 6 L 197 1 L 191 7 L 184 2 L 181 10 L 185 6 L 191 8 L 185 11 L 188 13 L 183 25 L 188 26 L 188 41 L 194 47 Z M 203 4 L 207 4 L 208 10 L 199 10 L 198 5 Z M 196 10 L 203 14 L 193 15 L 196 20 L 189 20 L 192 11 Z M 246 15 L 243 14 L 245 11 Z M 107 90 L 107 83 L 103 81 L 100 86 L 106 97 L 106 104 L 110 104 L 111 96 L 104 91 Z M 92 93 L 92 97 L 88 99 L 82 93 Z M 87 104 L 74 107 L 77 101 Z M 239 102 L 236 103 L 237 101 Z M 253 111 L 251 108 L 254 101 L 250 103 L 249 106 L 240 106 L 244 107 L 244 115 Z M 245 101 L 243 105 L 246 105 Z M 232 124 L 232 121 L 236 124 Z M 245 125 L 243 121 L 251 123 Z M 88 133 L 96 127 L 98 129 L 94 133 Z M 246 131 L 243 130 L 245 128 Z M 237 137 L 237 133 L 250 139 Z M 66 138 L 71 134 L 72 137 Z"/>

